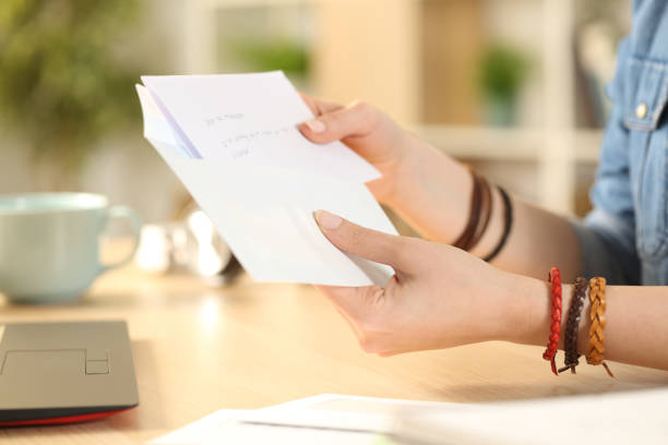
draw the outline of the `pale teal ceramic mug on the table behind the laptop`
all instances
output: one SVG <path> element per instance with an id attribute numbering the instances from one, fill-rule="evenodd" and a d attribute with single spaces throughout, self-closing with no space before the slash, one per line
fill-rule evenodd
<path id="1" fill-rule="evenodd" d="M 116 264 L 102 264 L 99 238 L 112 218 L 130 222 L 134 246 Z M 13 302 L 74 300 L 102 273 L 128 263 L 141 220 L 129 207 L 87 193 L 0 195 L 0 293 Z"/>

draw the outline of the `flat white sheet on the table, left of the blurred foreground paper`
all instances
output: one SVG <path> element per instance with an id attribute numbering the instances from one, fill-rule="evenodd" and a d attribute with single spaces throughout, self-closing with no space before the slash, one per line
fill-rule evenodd
<path id="1" fill-rule="evenodd" d="M 410 410 L 456 410 L 465 405 L 321 394 L 258 410 L 222 409 L 151 442 L 386 444 L 396 416 Z M 440 411 L 441 412 L 441 411 Z"/>

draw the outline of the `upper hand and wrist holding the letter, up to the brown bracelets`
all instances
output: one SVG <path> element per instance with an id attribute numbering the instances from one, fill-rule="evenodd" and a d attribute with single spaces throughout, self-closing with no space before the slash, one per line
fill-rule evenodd
<path id="1" fill-rule="evenodd" d="M 301 133 L 318 144 L 341 140 L 371 163 L 382 178 L 367 187 L 379 202 L 426 238 L 451 242 L 460 236 L 473 184 L 465 168 L 365 103 L 302 98 L 317 118 L 302 123 Z"/>

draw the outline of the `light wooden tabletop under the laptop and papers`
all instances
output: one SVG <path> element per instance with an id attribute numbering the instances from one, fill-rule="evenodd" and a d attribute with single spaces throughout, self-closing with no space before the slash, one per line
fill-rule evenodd
<path id="1" fill-rule="evenodd" d="M 361 352 L 313 288 L 242 276 L 212 288 L 132 267 L 99 278 L 71 305 L 10 305 L 0 321 L 127 320 L 140 406 L 103 421 L 0 429 L 2 444 L 133 444 L 220 408 L 259 408 L 321 393 L 489 401 L 665 385 L 668 372 L 612 363 L 554 377 L 538 347 L 488 342 L 389 359 Z"/>

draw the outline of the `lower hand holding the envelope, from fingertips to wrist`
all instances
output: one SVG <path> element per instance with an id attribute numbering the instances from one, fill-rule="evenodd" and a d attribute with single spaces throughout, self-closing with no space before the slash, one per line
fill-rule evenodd
<path id="1" fill-rule="evenodd" d="M 344 252 L 389 264 L 395 276 L 381 288 L 318 288 L 348 321 L 368 352 L 449 348 L 516 338 L 526 314 L 518 287 L 545 285 L 490 266 L 458 249 L 366 229 L 327 212 L 315 219 Z"/>

